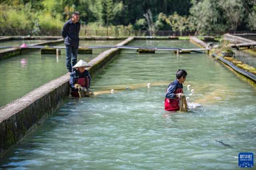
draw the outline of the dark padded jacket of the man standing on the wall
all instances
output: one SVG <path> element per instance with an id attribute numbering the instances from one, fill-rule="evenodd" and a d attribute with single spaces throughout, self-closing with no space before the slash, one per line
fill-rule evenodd
<path id="1" fill-rule="evenodd" d="M 80 23 L 76 24 L 72 20 L 68 20 L 62 29 L 62 37 L 65 45 L 78 46 L 79 45 Z"/>

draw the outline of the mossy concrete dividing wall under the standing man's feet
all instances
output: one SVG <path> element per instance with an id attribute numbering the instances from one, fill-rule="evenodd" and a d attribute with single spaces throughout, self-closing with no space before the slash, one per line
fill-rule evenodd
<path id="1" fill-rule="evenodd" d="M 133 40 L 130 37 L 118 45 L 126 45 Z M 120 49 L 112 48 L 92 59 L 89 62 L 92 77 L 119 52 Z M 63 75 L 54 79 L 0 108 L 0 156 L 36 125 L 40 125 L 69 96 L 69 77 Z"/>

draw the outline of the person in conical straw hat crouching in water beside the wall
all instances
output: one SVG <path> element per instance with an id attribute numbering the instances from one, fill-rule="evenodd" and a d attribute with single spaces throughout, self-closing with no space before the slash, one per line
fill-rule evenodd
<path id="1" fill-rule="evenodd" d="M 73 97 L 79 97 L 78 89 L 75 87 L 75 84 L 79 84 L 81 87 L 86 88 L 87 91 L 89 90 L 91 77 L 89 71 L 86 70 L 86 67 L 91 67 L 91 65 L 82 59 L 72 67 L 75 70 L 70 74 L 69 83 L 71 87 L 70 94 Z"/>

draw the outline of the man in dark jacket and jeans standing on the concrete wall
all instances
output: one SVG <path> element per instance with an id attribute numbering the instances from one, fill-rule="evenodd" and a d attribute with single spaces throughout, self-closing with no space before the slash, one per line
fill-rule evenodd
<path id="1" fill-rule="evenodd" d="M 79 19 L 79 12 L 73 12 L 72 18 L 64 24 L 62 29 L 62 37 L 66 45 L 66 66 L 70 73 L 77 60 L 80 32 Z"/>

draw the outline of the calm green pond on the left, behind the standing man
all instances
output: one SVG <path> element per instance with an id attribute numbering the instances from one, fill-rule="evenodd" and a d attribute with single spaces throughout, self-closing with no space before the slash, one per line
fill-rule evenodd
<path id="1" fill-rule="evenodd" d="M 112 45 L 118 41 L 80 41 L 80 45 Z M 64 44 L 60 44 L 64 46 Z M 92 54 L 78 54 L 78 61 L 83 59 L 88 62 L 99 53 L 107 49 L 93 49 Z M 61 55 L 40 54 L 40 50 L 31 51 L 22 55 L 6 58 L 0 61 L 0 107 L 22 97 L 65 73 L 66 54 L 65 49 L 61 50 Z"/>

